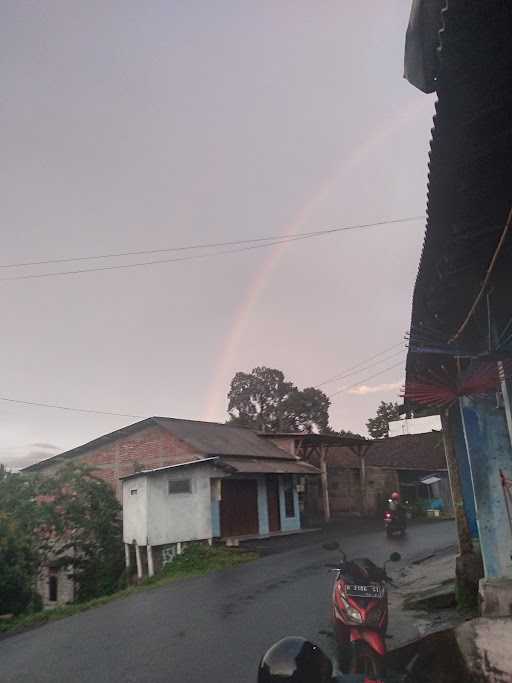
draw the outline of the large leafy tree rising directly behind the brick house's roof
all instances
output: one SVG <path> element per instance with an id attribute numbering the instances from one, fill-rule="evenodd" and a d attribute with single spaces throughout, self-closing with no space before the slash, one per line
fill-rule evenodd
<path id="1" fill-rule="evenodd" d="M 260 431 L 325 431 L 328 397 L 319 389 L 298 389 L 275 368 L 237 372 L 228 393 L 230 422 Z"/>

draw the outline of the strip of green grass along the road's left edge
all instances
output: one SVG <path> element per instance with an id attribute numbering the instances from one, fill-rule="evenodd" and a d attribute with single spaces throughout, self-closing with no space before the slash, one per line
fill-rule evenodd
<path id="1" fill-rule="evenodd" d="M 223 546 L 210 548 L 204 545 L 192 545 L 184 551 L 183 555 L 176 557 L 173 562 L 166 565 L 159 574 L 150 579 L 145 579 L 137 586 L 129 586 L 116 593 L 103 595 L 100 598 L 94 598 L 87 602 L 77 602 L 51 610 L 21 614 L 12 619 L 0 620 L 0 634 L 17 633 L 27 628 L 46 624 L 49 621 L 64 619 L 65 617 L 71 617 L 74 614 L 86 612 L 95 607 L 101 607 L 113 600 L 127 598 L 146 589 L 160 588 L 178 579 L 202 576 L 212 571 L 238 567 L 257 558 L 257 553 L 246 552 L 236 548 L 225 548 Z"/>

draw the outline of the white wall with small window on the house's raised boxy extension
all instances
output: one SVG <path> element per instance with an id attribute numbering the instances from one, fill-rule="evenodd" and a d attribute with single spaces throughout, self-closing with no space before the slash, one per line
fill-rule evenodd
<path id="1" fill-rule="evenodd" d="M 163 470 L 149 475 L 148 543 L 209 539 L 212 531 L 210 478 L 219 471 L 208 464 Z M 169 493 L 169 480 L 190 479 L 192 493 Z"/>

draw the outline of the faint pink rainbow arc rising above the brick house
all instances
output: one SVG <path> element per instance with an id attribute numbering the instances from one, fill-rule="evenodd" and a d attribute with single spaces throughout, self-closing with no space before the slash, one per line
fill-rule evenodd
<path id="1" fill-rule="evenodd" d="M 363 161 L 367 160 L 376 147 L 400 132 L 405 123 L 416 119 L 426 108 L 432 108 L 432 101 L 432 98 L 418 95 L 401 112 L 397 112 L 385 124 L 376 128 L 362 144 L 353 149 L 349 157 L 343 159 L 337 165 L 335 171 L 329 177 L 322 181 L 317 191 L 301 207 L 295 218 L 285 226 L 282 236 L 286 237 L 300 232 L 306 222 L 313 216 L 316 207 L 328 197 L 333 187 L 338 184 L 342 175 L 348 174 Z M 237 310 L 227 335 L 221 357 L 213 372 L 204 410 L 206 420 L 215 421 L 216 419 L 223 419 L 221 416 L 225 414 L 227 381 L 231 379 L 238 369 L 236 367 L 238 349 L 249 327 L 252 312 L 263 292 L 269 286 L 272 274 L 279 265 L 288 246 L 288 244 L 282 243 L 269 247 L 267 258 L 247 288 L 245 297 Z M 229 379 L 227 380 L 228 377 Z"/>

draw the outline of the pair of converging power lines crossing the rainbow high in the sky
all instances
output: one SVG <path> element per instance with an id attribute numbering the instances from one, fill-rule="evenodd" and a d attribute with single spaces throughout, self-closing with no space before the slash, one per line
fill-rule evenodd
<path id="1" fill-rule="evenodd" d="M 30 279 L 38 279 L 38 278 L 47 278 L 47 277 L 58 277 L 58 276 L 67 276 L 67 275 L 78 275 L 81 273 L 93 273 L 93 272 L 99 272 L 103 270 L 121 270 L 121 269 L 127 269 L 127 268 L 137 268 L 141 266 L 152 266 L 152 265 L 157 265 L 157 264 L 162 264 L 162 263 L 175 263 L 178 261 L 192 261 L 192 260 L 199 260 L 199 259 L 206 259 L 206 258 L 213 258 L 216 256 L 222 256 L 225 254 L 235 254 L 235 253 L 240 253 L 242 251 L 251 251 L 254 249 L 263 249 L 266 247 L 272 247 L 276 246 L 279 244 L 285 244 L 288 242 L 295 242 L 299 240 L 304 240 L 304 239 L 311 239 L 314 237 L 322 237 L 325 235 L 331 235 L 339 232 L 346 232 L 349 230 L 364 230 L 368 228 L 375 228 L 379 226 L 384 226 L 384 225 L 393 225 L 397 223 L 406 223 L 406 222 L 412 222 L 415 220 L 420 220 L 423 219 L 424 216 L 409 216 L 406 218 L 396 218 L 388 221 L 377 221 L 375 223 L 361 223 L 357 225 L 347 225 L 347 226 L 342 226 L 342 227 L 337 227 L 337 228 L 326 228 L 324 230 L 316 230 L 313 232 L 306 232 L 306 233 L 294 233 L 291 235 L 284 236 L 280 238 L 279 236 L 274 236 L 274 237 L 258 237 L 254 239 L 248 239 L 248 240 L 238 240 L 238 241 L 232 241 L 232 242 L 218 242 L 218 243 L 210 243 L 210 244 L 195 244 L 195 245 L 190 245 L 190 246 L 185 246 L 185 247 L 169 247 L 166 249 L 151 249 L 151 250 L 140 250 L 140 251 L 134 251 L 134 252 L 118 252 L 118 253 L 112 253 L 112 254 L 99 254 L 96 256 L 80 256 L 80 257 L 75 257 L 75 258 L 68 258 L 68 259 L 44 259 L 41 261 L 26 261 L 26 262 L 20 262 L 20 263 L 6 263 L 6 264 L 0 264 L 0 268 L 15 268 L 15 267 L 22 267 L 22 266 L 34 266 L 34 265 L 43 265 L 43 264 L 51 264 L 51 263 L 68 263 L 71 261 L 85 261 L 85 260 L 93 260 L 93 259 L 99 259 L 99 258 L 115 258 L 115 257 L 120 257 L 120 256 L 130 256 L 130 255 L 136 255 L 136 254 L 150 254 L 150 253 L 163 253 L 163 252 L 169 252 L 169 251 L 187 251 L 187 250 L 195 250 L 195 249 L 211 249 L 211 248 L 217 248 L 220 246 L 236 246 L 236 245 L 247 245 L 248 243 L 250 246 L 242 246 L 239 249 L 221 249 L 219 251 L 214 251 L 210 252 L 207 254 L 189 254 L 187 256 L 182 256 L 182 257 L 176 257 L 176 258 L 169 258 L 169 259 L 155 259 L 151 261 L 138 261 L 135 263 L 126 263 L 126 264 L 114 264 L 114 265 L 108 265 L 108 266 L 96 266 L 94 268 L 77 268 L 75 270 L 67 270 L 67 271 L 56 271 L 56 272 L 46 272 L 46 273 L 29 273 L 25 275 L 14 275 L 14 276 L 8 276 L 8 277 L 2 277 L 0 278 L 0 281 L 7 281 L 7 280 L 30 280 Z"/>

